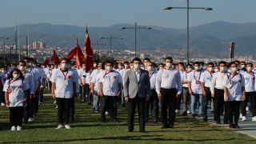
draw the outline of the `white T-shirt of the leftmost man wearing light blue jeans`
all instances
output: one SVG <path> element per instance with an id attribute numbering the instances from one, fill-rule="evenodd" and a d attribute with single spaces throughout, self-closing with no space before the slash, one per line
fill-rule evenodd
<path id="1" fill-rule="evenodd" d="M 191 71 L 190 74 L 188 74 L 188 81 L 191 82 L 191 90 L 194 94 L 202 94 L 202 86 L 200 82 L 200 78 L 202 77 L 202 72 L 195 70 Z"/>

